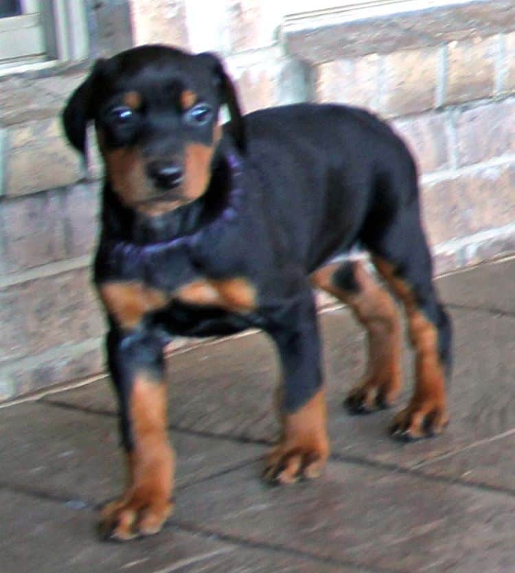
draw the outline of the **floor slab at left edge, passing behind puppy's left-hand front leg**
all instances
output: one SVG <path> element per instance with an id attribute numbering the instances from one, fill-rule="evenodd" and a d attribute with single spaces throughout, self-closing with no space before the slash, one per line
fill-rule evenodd
<path id="1" fill-rule="evenodd" d="M 124 460 L 113 416 L 27 403 L 0 410 L 0 486 L 82 506 L 122 492 Z M 262 448 L 172 432 L 177 491 L 259 458 Z M 0 571 L 2 571 L 0 567 Z"/>

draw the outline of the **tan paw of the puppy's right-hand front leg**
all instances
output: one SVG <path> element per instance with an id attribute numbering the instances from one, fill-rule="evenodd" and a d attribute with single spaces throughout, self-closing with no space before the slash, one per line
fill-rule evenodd
<path id="1" fill-rule="evenodd" d="M 328 460 L 328 447 L 278 445 L 266 456 L 263 479 L 270 484 L 294 484 L 313 480 L 322 474 Z"/>

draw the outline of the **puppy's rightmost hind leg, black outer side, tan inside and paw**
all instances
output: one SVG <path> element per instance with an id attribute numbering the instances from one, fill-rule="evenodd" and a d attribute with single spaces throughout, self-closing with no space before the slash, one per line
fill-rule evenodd
<path id="1" fill-rule="evenodd" d="M 432 282 L 431 255 L 417 201 L 391 220 L 373 225 L 365 244 L 374 264 L 404 303 L 415 349 L 415 392 L 393 420 L 391 433 L 403 439 L 439 434 L 448 422 L 446 380 L 450 378 L 452 326 Z"/>

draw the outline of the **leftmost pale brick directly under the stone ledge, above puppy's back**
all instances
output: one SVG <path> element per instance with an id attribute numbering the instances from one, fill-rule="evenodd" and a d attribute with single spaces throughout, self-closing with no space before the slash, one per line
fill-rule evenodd
<path id="1" fill-rule="evenodd" d="M 377 56 L 328 62 L 320 65 L 317 72 L 317 101 L 377 108 L 379 103 Z"/>

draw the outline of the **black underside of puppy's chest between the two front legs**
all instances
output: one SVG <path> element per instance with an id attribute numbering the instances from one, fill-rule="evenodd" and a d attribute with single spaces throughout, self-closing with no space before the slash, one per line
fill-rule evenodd
<path id="1" fill-rule="evenodd" d="M 210 306 L 194 306 L 172 302 L 150 319 L 153 326 L 163 328 L 170 335 L 186 337 L 226 336 L 258 327 L 253 314 L 238 314 Z"/>

